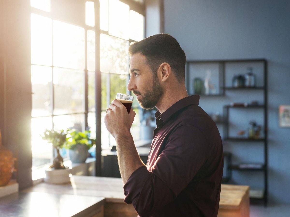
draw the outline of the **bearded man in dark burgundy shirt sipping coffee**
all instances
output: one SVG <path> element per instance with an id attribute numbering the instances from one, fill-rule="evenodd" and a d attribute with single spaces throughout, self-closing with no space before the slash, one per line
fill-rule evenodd
<path id="1" fill-rule="evenodd" d="M 126 203 L 139 216 L 217 216 L 223 149 L 213 120 L 185 89 L 186 56 L 169 34 L 157 34 L 129 47 L 128 90 L 140 106 L 156 108 L 157 128 L 147 165 L 140 160 L 130 128 L 135 117 L 118 100 L 105 124 L 117 145 Z"/>

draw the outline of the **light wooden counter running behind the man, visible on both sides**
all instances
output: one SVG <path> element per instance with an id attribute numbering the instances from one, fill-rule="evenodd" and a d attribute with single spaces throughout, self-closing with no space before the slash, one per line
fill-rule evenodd
<path id="1" fill-rule="evenodd" d="M 23 192 L 105 198 L 104 216 L 137 216 L 133 205 L 124 203 L 123 183 L 120 178 L 72 176 L 71 182 L 67 184 L 40 183 Z M 218 216 L 249 217 L 249 186 L 223 184 Z"/>

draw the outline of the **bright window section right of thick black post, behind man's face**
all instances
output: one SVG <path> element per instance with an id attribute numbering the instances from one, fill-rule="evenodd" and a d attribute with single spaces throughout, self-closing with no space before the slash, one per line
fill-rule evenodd
<path id="1" fill-rule="evenodd" d="M 100 69 L 102 80 L 102 148 L 115 144 L 104 124 L 106 108 L 116 98 L 117 92 L 128 93 L 128 47 L 135 40 L 144 38 L 144 16 L 118 0 L 100 1 Z M 139 139 L 139 104 L 134 100 L 136 116 L 131 128 L 134 140 Z"/>

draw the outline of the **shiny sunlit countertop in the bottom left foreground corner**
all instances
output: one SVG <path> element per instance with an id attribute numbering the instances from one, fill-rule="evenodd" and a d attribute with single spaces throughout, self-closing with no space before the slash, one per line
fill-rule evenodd
<path id="1" fill-rule="evenodd" d="M 0 213 L 5 217 L 101 217 L 104 202 L 104 197 L 20 192 L 0 198 Z"/>

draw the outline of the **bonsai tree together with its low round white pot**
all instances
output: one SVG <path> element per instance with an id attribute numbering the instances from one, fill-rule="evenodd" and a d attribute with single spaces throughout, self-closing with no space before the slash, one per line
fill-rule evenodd
<path id="1" fill-rule="evenodd" d="M 57 156 L 53 159 L 53 164 L 45 169 L 44 181 L 48 183 L 67 183 L 70 181 L 70 168 L 64 166 L 64 159 L 59 154 L 59 149 L 63 148 L 68 132 L 64 130 L 45 130 L 40 136 L 55 148 Z"/>

